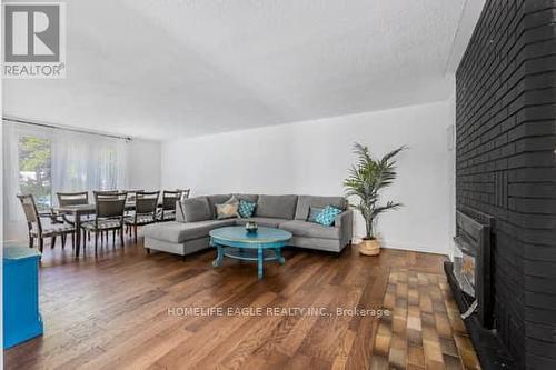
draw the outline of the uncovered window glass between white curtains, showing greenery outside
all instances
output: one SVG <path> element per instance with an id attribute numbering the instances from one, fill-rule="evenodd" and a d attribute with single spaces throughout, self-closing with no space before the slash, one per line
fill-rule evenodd
<path id="1" fill-rule="evenodd" d="M 21 193 L 33 194 L 39 210 L 52 206 L 51 142 L 34 136 L 21 136 L 18 142 L 19 186 Z"/>

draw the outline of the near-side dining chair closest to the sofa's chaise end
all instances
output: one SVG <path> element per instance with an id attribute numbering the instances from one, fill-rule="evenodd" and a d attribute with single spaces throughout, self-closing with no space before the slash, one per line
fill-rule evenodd
<path id="1" fill-rule="evenodd" d="M 116 232 L 120 233 L 121 247 L 123 247 L 123 212 L 126 210 L 126 192 L 120 191 L 95 191 L 96 218 L 92 221 L 81 223 L 83 232 L 95 232 L 95 254 L 98 250 L 99 236 L 106 234 L 108 243 L 108 232 L 112 231 L 112 244 L 116 244 Z M 85 236 L 83 236 L 85 240 Z M 87 242 L 83 243 L 83 247 Z"/>

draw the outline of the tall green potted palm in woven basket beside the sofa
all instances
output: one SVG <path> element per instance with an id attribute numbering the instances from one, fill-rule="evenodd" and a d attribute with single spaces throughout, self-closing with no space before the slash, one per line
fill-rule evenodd
<path id="1" fill-rule="evenodd" d="M 346 194 L 358 198 L 359 202 L 351 204 L 365 219 L 367 233 L 359 244 L 363 254 L 376 256 L 380 252 L 380 243 L 375 236 L 375 221 L 377 217 L 388 210 L 398 209 L 401 203 L 387 201 L 379 204 L 379 193 L 389 187 L 396 179 L 396 156 L 406 147 L 399 147 L 375 159 L 369 154 L 369 149 L 359 143 L 354 144 L 354 152 L 358 162 L 349 170 L 349 177 L 344 181 Z"/>

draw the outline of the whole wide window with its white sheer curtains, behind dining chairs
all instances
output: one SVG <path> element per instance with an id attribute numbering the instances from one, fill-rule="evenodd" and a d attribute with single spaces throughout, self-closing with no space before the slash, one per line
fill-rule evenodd
<path id="1" fill-rule="evenodd" d="M 57 192 L 126 189 L 126 140 L 7 120 L 1 130 L 3 214 L 14 234 L 24 221 L 18 193 L 33 194 L 42 211 Z"/>

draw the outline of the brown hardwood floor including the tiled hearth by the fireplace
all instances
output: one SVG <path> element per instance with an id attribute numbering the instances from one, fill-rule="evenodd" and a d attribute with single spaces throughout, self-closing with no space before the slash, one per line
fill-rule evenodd
<path id="1" fill-rule="evenodd" d="M 258 281 L 251 263 L 225 260 L 212 268 L 214 251 L 182 262 L 146 254 L 140 243 L 125 250 L 110 243 L 98 258 L 88 248 L 78 261 L 71 248 L 46 249 L 44 336 L 6 351 L 6 368 L 478 368 L 440 256 L 286 250 L 286 264 L 268 263 Z M 182 312 L 195 307 L 252 312 Z M 267 314 L 267 308 L 326 311 Z M 338 308 L 391 314 L 338 316 Z"/>

